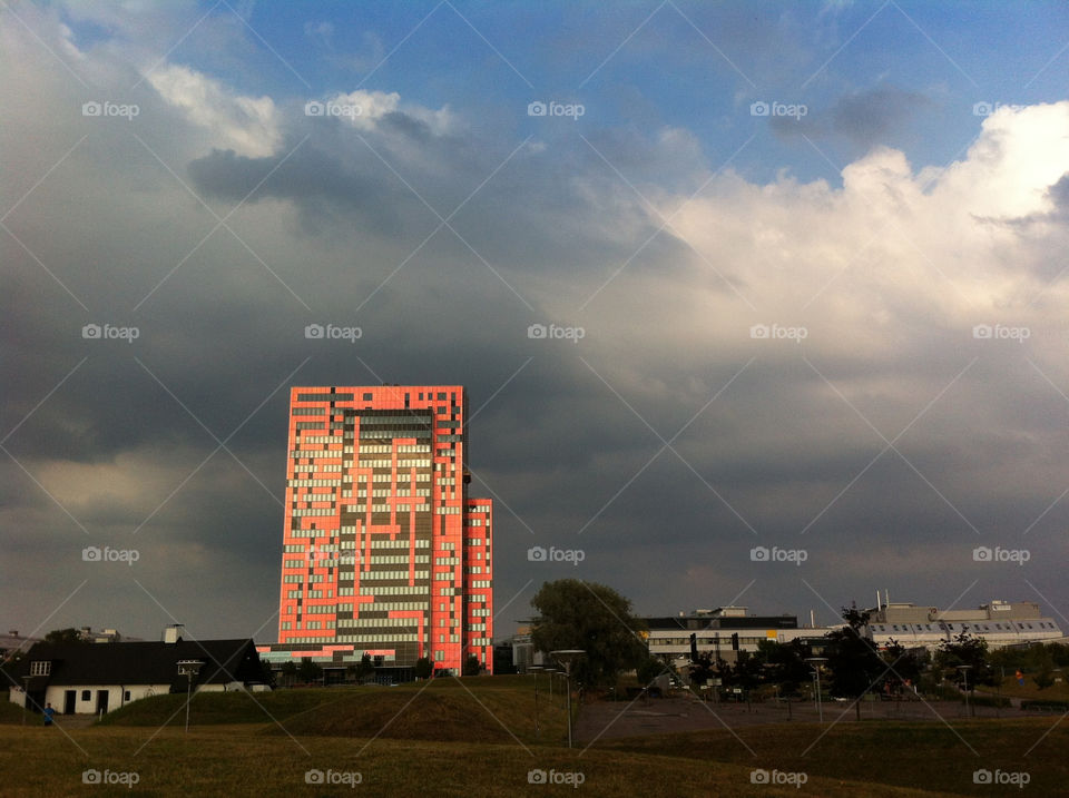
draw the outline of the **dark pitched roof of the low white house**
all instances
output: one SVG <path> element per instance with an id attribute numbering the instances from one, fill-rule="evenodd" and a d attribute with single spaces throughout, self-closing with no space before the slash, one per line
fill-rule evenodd
<path id="1" fill-rule="evenodd" d="M 37 643 L 9 671 L 16 683 L 29 676 L 32 662 L 48 660 L 48 677 L 33 677 L 30 689 L 45 684 L 170 684 L 185 689 L 179 660 L 205 664 L 194 684 L 259 681 L 259 654 L 251 639 L 179 640 L 177 643 Z"/>

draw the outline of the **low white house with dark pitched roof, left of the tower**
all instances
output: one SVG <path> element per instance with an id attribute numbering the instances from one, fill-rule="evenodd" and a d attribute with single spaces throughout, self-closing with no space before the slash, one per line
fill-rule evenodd
<path id="1" fill-rule="evenodd" d="M 187 676 L 189 670 L 196 674 Z M 35 712 L 51 703 L 58 715 L 101 715 L 148 696 L 186 692 L 187 686 L 257 689 L 264 678 L 251 639 L 177 636 L 164 642 L 37 643 L 12 671 L 12 702 Z"/>

